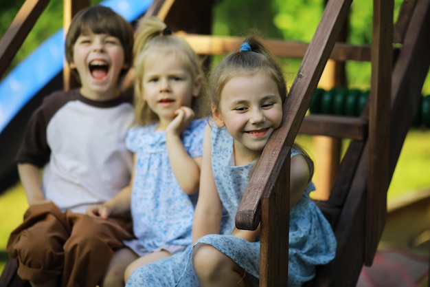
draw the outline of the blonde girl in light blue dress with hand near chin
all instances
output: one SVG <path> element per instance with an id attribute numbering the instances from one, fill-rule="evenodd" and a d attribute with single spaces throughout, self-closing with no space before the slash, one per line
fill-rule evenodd
<path id="1" fill-rule="evenodd" d="M 185 40 L 155 17 L 142 19 L 134 56 L 136 125 L 126 136 L 134 153 L 131 186 L 89 211 L 108 217 L 131 210 L 137 239 L 125 242 L 130 249 L 118 255 L 124 260 L 117 274 L 131 262 L 124 281 L 135 268 L 192 243 L 207 125 L 200 109 L 205 83 L 201 59 Z"/>

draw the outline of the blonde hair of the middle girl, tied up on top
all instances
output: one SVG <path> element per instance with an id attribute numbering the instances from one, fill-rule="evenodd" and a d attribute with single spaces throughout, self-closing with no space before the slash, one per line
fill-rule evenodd
<path id="1" fill-rule="evenodd" d="M 192 47 L 183 38 L 169 33 L 166 23 L 156 17 L 143 18 L 139 21 L 135 36 L 134 54 L 134 89 L 135 89 L 135 118 L 137 125 L 148 125 L 159 120 L 157 114 L 148 107 L 146 100 L 142 98 L 144 93 L 142 79 L 145 74 L 144 62 L 154 51 L 168 51 L 176 54 L 183 61 L 191 75 L 192 81 L 201 78 L 201 90 L 199 96 L 193 97 L 192 109 L 196 117 L 203 116 L 203 98 L 205 90 L 205 74 L 203 61 L 192 50 Z"/>

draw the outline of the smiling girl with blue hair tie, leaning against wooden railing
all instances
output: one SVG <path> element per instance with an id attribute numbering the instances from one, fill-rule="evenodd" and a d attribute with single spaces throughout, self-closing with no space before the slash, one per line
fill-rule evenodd
<path id="1" fill-rule="evenodd" d="M 128 287 L 258 286 L 259 229 L 238 230 L 235 217 L 251 171 L 282 121 L 286 84 L 275 58 L 251 37 L 214 69 L 209 95 L 213 121 L 205 130 L 193 245 L 135 270 Z M 332 228 L 308 196 L 312 173 L 310 158 L 293 147 L 288 286 L 302 286 L 316 265 L 335 256 Z"/>

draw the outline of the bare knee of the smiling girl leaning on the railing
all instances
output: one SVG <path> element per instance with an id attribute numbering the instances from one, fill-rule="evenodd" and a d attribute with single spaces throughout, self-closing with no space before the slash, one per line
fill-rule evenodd
<path id="1" fill-rule="evenodd" d="M 251 286 L 245 270 L 214 246 L 198 244 L 192 262 L 202 287 Z"/>

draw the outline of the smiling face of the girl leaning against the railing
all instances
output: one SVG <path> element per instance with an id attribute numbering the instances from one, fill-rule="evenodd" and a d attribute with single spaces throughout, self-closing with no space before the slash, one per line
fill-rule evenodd
<path id="1" fill-rule="evenodd" d="M 262 70 L 227 81 L 219 106 L 214 109 L 214 121 L 233 136 L 235 158 L 236 153 L 257 158 L 282 120 L 278 86 Z"/>

